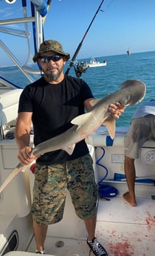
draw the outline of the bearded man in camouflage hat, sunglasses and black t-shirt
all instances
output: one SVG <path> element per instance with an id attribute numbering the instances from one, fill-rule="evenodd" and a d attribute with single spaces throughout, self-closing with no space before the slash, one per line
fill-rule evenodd
<path id="1" fill-rule="evenodd" d="M 66 76 L 63 66 L 69 53 L 63 52 L 59 42 L 47 40 L 40 45 L 33 57 L 39 62 L 44 77 L 27 85 L 21 93 L 15 138 L 18 144 L 18 160 L 27 165 L 35 159 L 31 156 L 30 129 L 34 129 L 34 145 L 49 140 L 71 128 L 71 120 L 89 111 L 94 99 L 89 86 L 82 79 Z M 108 111 L 119 118 L 124 107 L 119 102 L 111 104 Z M 94 235 L 96 224 L 97 186 L 94 182 L 92 159 L 86 142 L 78 142 L 72 155 L 58 150 L 38 156 L 35 166 L 35 184 L 32 203 L 33 229 L 36 253 L 44 254 L 47 226 L 63 217 L 69 189 L 77 216 L 85 221 L 87 243 L 94 255 L 107 256 L 106 249 Z"/>

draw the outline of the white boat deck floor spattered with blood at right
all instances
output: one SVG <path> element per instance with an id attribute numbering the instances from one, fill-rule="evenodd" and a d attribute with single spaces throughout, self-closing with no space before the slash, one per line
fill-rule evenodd
<path id="1" fill-rule="evenodd" d="M 99 200 L 96 234 L 109 256 L 154 256 L 154 209 L 155 200 L 151 195 L 150 198 L 138 196 L 137 207 L 125 203 L 122 194 L 110 200 Z M 47 235 L 45 246 L 49 255 L 89 256 L 86 237 L 64 239 Z M 27 252 L 35 252 L 34 238 Z"/>

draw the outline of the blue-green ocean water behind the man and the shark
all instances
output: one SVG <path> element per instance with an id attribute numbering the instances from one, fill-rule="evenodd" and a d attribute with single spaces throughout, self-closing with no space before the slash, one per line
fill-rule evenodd
<path id="1" fill-rule="evenodd" d="M 106 59 L 107 65 L 97 68 L 88 68 L 81 78 L 84 79 L 92 89 L 95 98 L 103 98 L 107 93 L 112 93 L 120 89 L 120 84 L 127 79 L 139 79 L 146 85 L 145 98 L 138 105 L 155 98 L 155 51 L 145 53 L 131 53 L 117 56 L 98 57 L 97 60 L 103 62 Z M 80 59 L 79 61 L 85 59 Z M 89 62 L 89 59 L 86 59 Z M 69 63 L 67 63 L 69 64 Z M 64 71 L 67 66 L 64 67 Z M 0 76 L 4 76 L 11 82 L 24 88 L 30 82 L 20 73 L 5 73 L 4 71 L 15 70 L 15 67 L 0 68 Z M 2 71 L 2 73 L 1 73 Z M 71 68 L 69 75 L 75 76 L 74 68 Z M 35 79 L 38 77 L 36 76 Z M 120 119 L 117 119 L 117 126 L 128 126 L 131 116 L 138 105 L 126 107 Z"/>

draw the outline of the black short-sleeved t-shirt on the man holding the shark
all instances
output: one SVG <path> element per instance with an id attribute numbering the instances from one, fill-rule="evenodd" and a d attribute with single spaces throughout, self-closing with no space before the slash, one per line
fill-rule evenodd
<path id="1" fill-rule="evenodd" d="M 92 91 L 83 79 L 64 76 L 59 84 L 49 84 L 42 77 L 24 88 L 18 112 L 32 112 L 34 145 L 51 139 L 68 130 L 71 120 L 84 114 L 83 102 L 92 98 Z M 42 155 L 38 163 L 62 163 L 88 154 L 86 142 L 78 142 L 72 155 L 57 150 Z"/>

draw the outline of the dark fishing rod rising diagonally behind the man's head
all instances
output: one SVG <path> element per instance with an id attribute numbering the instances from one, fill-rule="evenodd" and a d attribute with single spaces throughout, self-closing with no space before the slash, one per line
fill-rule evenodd
<path id="1" fill-rule="evenodd" d="M 104 1 L 104 0 L 103 0 L 103 1 Z M 70 69 L 72 68 L 72 66 L 74 65 L 75 59 L 76 59 L 76 57 L 77 57 L 77 54 L 79 53 L 79 50 L 80 50 L 80 48 L 81 48 L 82 45 L 83 45 L 83 41 L 84 41 L 84 39 L 85 39 L 87 33 L 89 32 L 89 28 L 92 26 L 92 23 L 94 22 L 94 19 L 95 19 L 95 17 L 97 16 L 97 13 L 99 12 L 101 5 L 103 4 L 103 1 L 101 1 L 100 6 L 98 7 L 96 13 L 94 14 L 94 17 L 93 17 L 93 19 L 92 19 L 92 22 L 89 24 L 89 27 L 87 28 L 86 33 L 85 33 L 84 36 L 83 36 L 83 39 L 81 40 L 80 44 L 77 46 L 77 50 L 75 50 L 75 54 L 72 56 L 72 60 L 71 60 L 69 66 L 68 66 L 68 68 L 67 68 L 67 70 L 66 70 L 66 72 L 65 72 L 66 75 L 68 75 L 69 70 L 70 70 Z M 84 71 L 83 71 L 83 72 L 84 72 Z"/>

